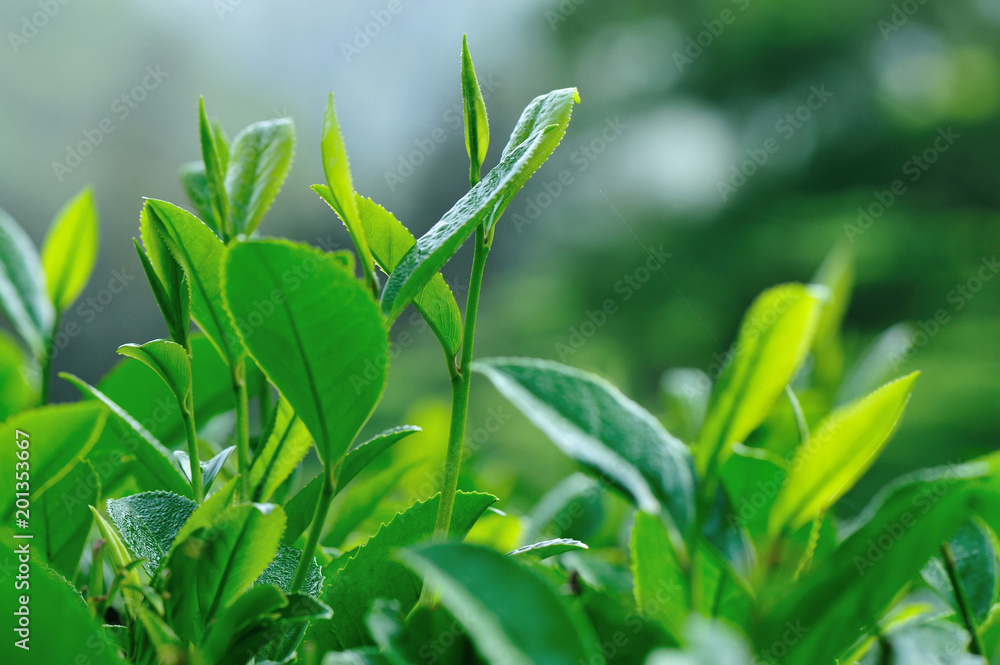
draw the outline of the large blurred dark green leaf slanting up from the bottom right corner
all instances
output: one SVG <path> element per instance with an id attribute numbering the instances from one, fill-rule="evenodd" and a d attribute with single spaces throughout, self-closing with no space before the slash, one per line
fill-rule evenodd
<path id="1" fill-rule="evenodd" d="M 833 662 L 969 516 L 971 491 L 989 471 L 983 463 L 927 470 L 883 489 L 834 552 L 794 586 L 769 590 L 758 648 L 787 647 L 783 665 Z M 789 644 L 782 635 L 792 627 Z"/>

